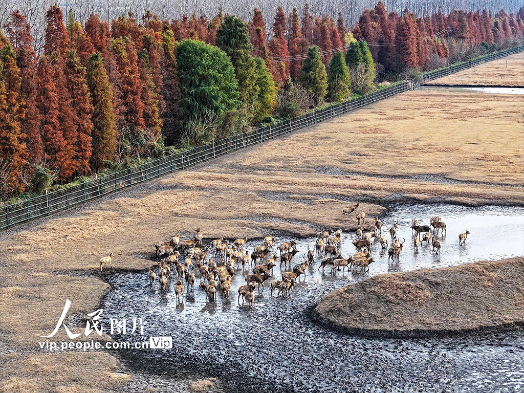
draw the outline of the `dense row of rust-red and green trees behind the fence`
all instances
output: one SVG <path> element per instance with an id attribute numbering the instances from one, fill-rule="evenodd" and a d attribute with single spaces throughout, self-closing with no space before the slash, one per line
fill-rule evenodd
<path id="1" fill-rule="evenodd" d="M 379 2 L 352 31 L 307 4 L 300 14 L 278 7 L 270 28 L 256 8 L 247 21 L 146 12 L 81 24 L 53 5 L 37 54 L 15 10 L 0 31 L 0 195 L 129 167 L 514 45 L 523 19 L 524 8 L 416 17 Z"/>

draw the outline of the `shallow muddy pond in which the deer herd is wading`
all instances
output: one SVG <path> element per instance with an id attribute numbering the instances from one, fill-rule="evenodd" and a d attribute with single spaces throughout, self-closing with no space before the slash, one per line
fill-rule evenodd
<path id="1" fill-rule="evenodd" d="M 440 255 L 421 246 L 414 253 L 410 223 L 427 224 L 441 216 L 448 232 Z M 147 285 L 145 273 L 112 276 L 113 290 L 103 301 L 105 318 L 142 317 L 147 321 L 143 341 L 149 336 L 172 336 L 171 350 L 125 351 L 130 364 L 147 372 L 216 376 L 232 392 L 515 392 L 524 389 L 524 333 L 475 334 L 443 339 L 365 339 L 323 328 L 310 319 L 310 309 L 320 297 L 348 283 L 388 271 L 443 267 L 524 255 L 524 208 L 455 205 L 390 206 L 381 217 L 386 234 L 398 221 L 399 236 L 406 238 L 400 262 L 388 264 L 378 242 L 375 263 L 366 274 L 336 276 L 318 271 L 319 259 L 308 267 L 305 281 L 289 298 L 271 297 L 269 281 L 257 294 L 254 309 L 237 303 L 237 288 L 245 283 L 241 271 L 233 279 L 230 298 L 217 294 L 206 303 L 196 288 L 177 304 L 173 288 L 163 294 Z M 335 229 L 335 228 L 334 228 Z M 459 233 L 470 231 L 465 246 Z M 353 233 L 344 233 L 342 254 L 353 254 Z M 389 237 L 389 234 L 388 234 Z M 277 241 L 288 241 L 278 238 Z M 258 242 L 248 242 L 248 249 Z M 301 261 L 307 245 L 293 263 Z M 145 261 L 145 264 L 147 261 Z M 280 270 L 274 276 L 280 279 Z M 198 278 L 197 278 L 198 280 Z M 173 285 L 174 287 L 174 285 Z M 126 336 L 125 339 L 128 340 Z"/>

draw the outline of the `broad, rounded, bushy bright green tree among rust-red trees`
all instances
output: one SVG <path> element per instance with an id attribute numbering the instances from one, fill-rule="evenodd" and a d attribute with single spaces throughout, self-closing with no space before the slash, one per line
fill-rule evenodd
<path id="1" fill-rule="evenodd" d="M 191 122 L 220 122 L 227 111 L 238 107 L 235 69 L 221 49 L 202 41 L 185 39 L 177 47 L 182 126 Z M 205 141 L 213 135 L 189 135 Z"/>

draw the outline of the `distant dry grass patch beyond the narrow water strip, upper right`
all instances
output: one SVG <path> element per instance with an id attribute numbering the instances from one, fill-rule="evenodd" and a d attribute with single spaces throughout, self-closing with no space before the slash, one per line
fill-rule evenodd
<path id="1" fill-rule="evenodd" d="M 524 52 L 476 65 L 428 82 L 442 86 L 524 87 Z"/>

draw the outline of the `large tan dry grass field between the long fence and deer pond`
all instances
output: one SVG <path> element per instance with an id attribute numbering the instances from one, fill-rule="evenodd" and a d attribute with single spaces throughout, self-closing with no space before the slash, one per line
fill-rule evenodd
<path id="1" fill-rule="evenodd" d="M 0 392 L 98 392 L 135 378 L 111 353 L 36 348 L 66 297 L 70 328 L 85 326 L 108 289 L 97 262 L 109 252 L 114 268 L 145 269 L 155 242 L 196 226 L 234 238 L 350 230 L 341 210 L 362 200 L 524 203 L 523 108 L 515 95 L 407 92 L 3 233 Z"/>

